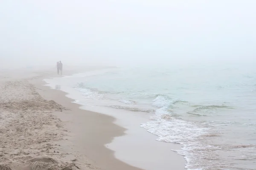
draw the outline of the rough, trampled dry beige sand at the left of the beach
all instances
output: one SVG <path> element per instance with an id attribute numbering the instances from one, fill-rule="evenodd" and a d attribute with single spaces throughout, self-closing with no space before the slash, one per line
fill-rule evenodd
<path id="1" fill-rule="evenodd" d="M 63 110 L 27 80 L 1 81 L 0 170 L 77 169 L 69 153 L 61 151 L 66 130 L 52 115 Z"/>

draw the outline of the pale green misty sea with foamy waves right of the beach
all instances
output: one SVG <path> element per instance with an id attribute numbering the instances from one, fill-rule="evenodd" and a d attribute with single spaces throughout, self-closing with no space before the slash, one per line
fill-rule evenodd
<path id="1" fill-rule="evenodd" d="M 256 170 L 252 64 L 141 65 L 45 81 L 74 89 L 82 105 L 147 114 L 145 133 L 180 144 L 170 152 L 184 156 L 188 170 Z"/>

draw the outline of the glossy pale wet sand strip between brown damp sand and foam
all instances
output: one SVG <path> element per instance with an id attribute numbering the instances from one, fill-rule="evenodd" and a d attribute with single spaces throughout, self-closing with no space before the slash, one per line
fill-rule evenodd
<path id="1" fill-rule="evenodd" d="M 47 84 L 45 82 L 42 82 L 42 83 L 44 85 Z M 49 87 L 49 86 L 52 86 L 52 87 Z M 54 88 L 54 86 L 55 85 L 51 84 L 51 85 L 48 85 L 47 88 L 51 89 L 52 91 L 60 91 L 60 90 L 52 89 Z M 64 91 L 66 91 L 66 88 L 64 89 L 65 89 Z M 75 102 L 75 99 L 77 98 L 76 98 L 76 95 L 73 95 L 73 94 L 76 94 L 77 92 L 74 91 L 72 95 L 67 92 L 70 92 L 70 91 L 66 91 L 62 95 L 67 97 L 70 103 Z M 60 100 L 59 98 L 54 100 L 58 103 L 61 103 L 61 101 L 59 101 Z M 102 117 L 102 121 L 104 122 L 108 121 L 108 119 L 106 119 L 105 116 L 111 116 L 111 124 L 112 124 L 111 126 L 117 126 L 119 129 L 122 129 L 121 133 L 120 131 L 116 132 L 115 131 L 116 128 L 114 128 L 115 130 L 112 129 L 110 131 L 107 131 L 108 135 L 112 136 L 111 140 L 108 140 L 108 142 L 102 143 L 102 145 L 106 149 L 108 150 L 110 149 L 109 153 L 115 159 L 118 159 L 119 161 L 123 161 L 126 164 L 130 164 L 132 166 L 139 167 L 145 170 L 170 169 L 170 168 L 175 168 L 175 170 L 185 170 L 186 161 L 183 158 L 183 156 L 180 156 L 176 152 L 172 151 L 172 150 L 179 150 L 181 148 L 180 144 L 156 141 L 157 136 L 149 133 L 146 129 L 140 127 L 141 123 L 150 121 L 148 119 L 149 117 L 148 115 L 139 116 L 137 115 L 138 113 L 125 112 L 125 111 L 122 111 L 122 114 L 115 114 L 117 113 L 117 110 L 111 109 L 111 108 L 101 108 L 100 110 L 99 109 L 93 110 L 90 107 L 88 108 L 76 103 L 73 103 L 73 104 L 75 104 L 76 107 L 78 107 L 78 109 L 82 110 L 84 114 L 93 112 L 94 114 L 99 114 L 101 116 L 104 115 Z M 69 103 L 65 103 L 64 105 L 69 105 Z M 118 113 L 120 113 L 120 111 L 118 111 Z M 81 115 L 81 117 L 83 118 L 87 116 Z M 125 120 L 130 120 L 132 124 L 129 121 L 125 122 Z M 99 133 L 101 133 L 102 135 L 101 131 Z M 103 136 L 103 137 L 109 138 L 109 136 Z M 81 141 L 82 140 L 84 139 L 81 138 Z M 126 142 L 123 142 L 123 141 L 126 141 Z M 141 147 L 143 145 L 144 145 L 144 148 Z M 99 152 L 101 151 L 99 150 Z M 95 158 L 96 156 L 94 156 L 92 159 L 95 160 Z"/>

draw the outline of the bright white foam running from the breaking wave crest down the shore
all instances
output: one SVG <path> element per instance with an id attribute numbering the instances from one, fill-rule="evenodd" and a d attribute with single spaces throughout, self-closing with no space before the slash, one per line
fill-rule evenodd
<path id="1" fill-rule="evenodd" d="M 200 144 L 199 136 L 207 133 L 208 128 L 198 126 L 193 122 L 188 122 L 172 116 L 172 111 L 169 110 L 170 105 L 180 101 L 172 99 L 168 96 L 157 96 L 152 105 L 157 107 L 155 115 L 151 117 L 153 121 L 142 124 L 141 127 L 158 136 L 157 141 L 172 142 L 182 145 L 181 150 L 176 150 L 186 159 L 186 168 L 193 167 L 195 161 L 195 153 L 191 152 Z M 193 168 L 192 168 L 193 169 Z M 195 170 L 195 169 L 193 169 Z"/>

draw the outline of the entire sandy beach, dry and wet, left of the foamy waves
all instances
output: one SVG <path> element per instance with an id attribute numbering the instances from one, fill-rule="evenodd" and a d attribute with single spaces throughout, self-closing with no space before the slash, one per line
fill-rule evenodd
<path id="1" fill-rule="evenodd" d="M 76 72 L 70 69 L 65 75 Z M 9 71 L 0 77 L 0 170 L 140 170 L 138 167 L 146 167 L 140 164 L 151 166 L 154 157 L 146 154 L 136 157 L 132 152 L 125 152 L 130 150 L 128 144 L 132 136 L 129 138 L 129 133 L 133 131 L 126 129 L 129 127 L 121 127 L 120 120 L 114 115 L 81 109 L 73 99 L 66 97 L 65 92 L 45 86 L 42 80 L 55 77 L 54 71 L 17 73 Z M 137 133 L 141 133 L 140 130 Z M 154 141 L 154 135 L 145 134 L 150 135 L 146 139 L 153 141 L 148 146 L 160 148 L 158 152 L 162 150 L 164 153 L 169 147 Z M 122 136 L 128 138 L 122 139 Z M 119 139 L 127 141 L 128 147 L 124 151 L 120 142 L 115 144 Z M 143 142 L 139 139 L 133 148 L 140 148 Z M 115 149 L 123 153 L 119 159 L 114 154 Z M 143 152 L 138 150 L 138 153 L 140 151 Z M 116 153 L 120 155 L 120 152 Z M 155 161 L 161 164 L 168 161 L 164 156 L 163 160 Z M 173 165 L 175 170 L 184 169 L 182 156 L 174 152 L 168 156 L 172 159 L 166 162 L 166 167 Z M 137 161 L 125 161 L 129 157 Z"/>

